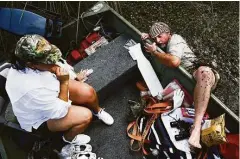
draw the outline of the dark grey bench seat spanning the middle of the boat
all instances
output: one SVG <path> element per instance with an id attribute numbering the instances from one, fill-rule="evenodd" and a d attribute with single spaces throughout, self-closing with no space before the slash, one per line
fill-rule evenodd
<path id="1" fill-rule="evenodd" d="M 86 83 L 93 86 L 100 100 L 124 84 L 133 76 L 131 72 L 137 69 L 136 61 L 123 47 L 129 39 L 127 35 L 121 35 L 74 66 L 76 72 L 81 69 L 93 69 Z"/>

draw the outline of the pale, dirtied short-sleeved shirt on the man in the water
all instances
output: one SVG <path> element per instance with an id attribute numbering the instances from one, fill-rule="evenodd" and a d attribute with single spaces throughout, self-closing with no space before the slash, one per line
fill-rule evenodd
<path id="1" fill-rule="evenodd" d="M 166 52 L 179 57 L 181 59 L 181 66 L 184 68 L 193 67 L 193 62 L 197 60 L 186 41 L 177 34 L 172 35 L 167 44 Z"/>

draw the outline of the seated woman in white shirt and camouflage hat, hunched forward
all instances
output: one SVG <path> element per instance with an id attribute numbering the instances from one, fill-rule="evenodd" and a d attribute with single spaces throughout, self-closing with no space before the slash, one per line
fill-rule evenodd
<path id="1" fill-rule="evenodd" d="M 99 106 L 95 90 L 69 77 L 72 68 L 60 67 L 59 62 L 64 63 L 61 51 L 43 37 L 25 35 L 18 41 L 6 91 L 21 127 L 28 132 L 42 127 L 63 132 L 64 141 L 75 142 L 92 114 L 112 125 L 114 120 Z"/>

